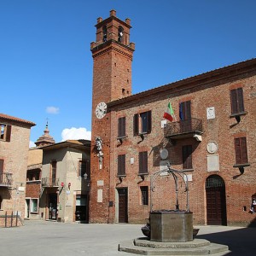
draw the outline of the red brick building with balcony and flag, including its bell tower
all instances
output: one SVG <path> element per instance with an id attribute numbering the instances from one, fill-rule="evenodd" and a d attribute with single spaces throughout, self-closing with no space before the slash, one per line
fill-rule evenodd
<path id="1" fill-rule="evenodd" d="M 254 224 L 256 60 L 132 95 L 130 28 L 112 10 L 91 44 L 90 222 L 145 223 L 150 196 L 154 210 L 175 209 L 172 177 L 150 190 L 150 176 L 169 162 L 187 175 L 195 224 Z M 172 122 L 163 119 L 169 102 Z"/>

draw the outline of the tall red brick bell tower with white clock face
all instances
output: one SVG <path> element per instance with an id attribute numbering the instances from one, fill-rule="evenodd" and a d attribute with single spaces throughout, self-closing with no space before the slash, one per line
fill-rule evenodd
<path id="1" fill-rule="evenodd" d="M 90 223 L 113 223 L 114 187 L 110 170 L 111 117 L 108 102 L 131 95 L 130 19 L 119 20 L 111 10 L 97 19 L 93 57 L 90 152 Z M 112 174 L 111 174 L 112 173 Z"/>

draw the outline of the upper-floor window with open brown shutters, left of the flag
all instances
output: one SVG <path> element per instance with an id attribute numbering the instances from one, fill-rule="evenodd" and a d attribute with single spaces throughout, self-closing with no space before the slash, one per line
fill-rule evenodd
<path id="1" fill-rule="evenodd" d="M 133 117 L 134 136 L 150 133 L 152 129 L 151 123 L 151 111 L 135 114 Z"/>

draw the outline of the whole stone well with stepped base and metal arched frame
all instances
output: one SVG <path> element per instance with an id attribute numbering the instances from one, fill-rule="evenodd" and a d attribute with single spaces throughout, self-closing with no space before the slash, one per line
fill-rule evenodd
<path id="1" fill-rule="evenodd" d="M 171 176 L 175 183 L 176 205 L 174 209 L 153 210 L 155 181 L 160 176 Z M 178 179 L 184 183 L 187 195 L 186 209 L 179 209 Z M 143 235 L 132 241 L 119 243 L 119 251 L 143 255 L 207 255 L 224 253 L 229 247 L 195 238 L 198 230 L 193 229 L 193 212 L 189 211 L 189 183 L 186 173 L 168 166 L 154 172 L 150 178 L 150 212 L 148 224 L 142 228 Z"/>

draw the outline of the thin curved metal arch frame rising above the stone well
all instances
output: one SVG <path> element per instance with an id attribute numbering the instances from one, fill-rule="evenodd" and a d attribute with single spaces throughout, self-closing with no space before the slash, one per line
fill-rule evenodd
<path id="1" fill-rule="evenodd" d="M 172 169 L 171 166 L 168 166 L 167 169 L 161 170 L 159 172 L 154 172 L 154 174 L 152 174 L 152 176 L 150 177 L 150 212 L 153 211 L 153 199 L 152 199 L 152 193 L 154 192 L 154 182 L 156 180 L 157 177 L 160 176 L 161 173 L 163 172 L 168 172 L 169 175 L 173 177 L 174 182 L 175 182 L 175 193 L 176 193 L 176 211 L 179 211 L 179 204 L 178 204 L 178 177 L 182 177 L 183 179 L 183 183 L 185 184 L 185 191 L 187 193 L 187 209 L 186 212 L 189 212 L 189 184 L 188 184 L 188 176 L 186 173 L 182 172 L 182 171 L 177 171 L 175 169 Z M 184 177 L 186 177 L 184 179 Z"/>

